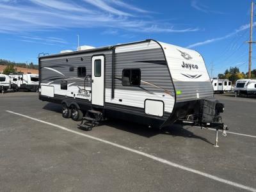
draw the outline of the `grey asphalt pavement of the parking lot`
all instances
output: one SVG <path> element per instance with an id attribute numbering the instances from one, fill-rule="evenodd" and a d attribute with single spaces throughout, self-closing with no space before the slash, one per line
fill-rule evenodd
<path id="1" fill-rule="evenodd" d="M 108 120 L 83 131 L 38 93 L 0 95 L 1 191 L 256 190 L 256 99 L 215 97 L 225 103 L 223 122 L 238 133 L 220 134 L 219 148 L 211 130 Z"/>

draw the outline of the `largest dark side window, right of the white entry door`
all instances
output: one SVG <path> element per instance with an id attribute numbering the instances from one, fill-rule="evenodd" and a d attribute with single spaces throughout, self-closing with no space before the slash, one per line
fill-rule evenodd
<path id="1" fill-rule="evenodd" d="M 123 86 L 140 86 L 141 72 L 139 68 L 124 69 L 122 72 Z"/>

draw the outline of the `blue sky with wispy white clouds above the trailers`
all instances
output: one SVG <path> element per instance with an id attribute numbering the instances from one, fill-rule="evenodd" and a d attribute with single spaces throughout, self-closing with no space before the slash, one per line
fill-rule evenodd
<path id="1" fill-rule="evenodd" d="M 77 35 L 93 47 L 152 38 L 200 52 L 213 77 L 229 67 L 247 72 L 250 2 L 0 0 L 0 58 L 37 64 L 40 52 L 76 51 Z"/>

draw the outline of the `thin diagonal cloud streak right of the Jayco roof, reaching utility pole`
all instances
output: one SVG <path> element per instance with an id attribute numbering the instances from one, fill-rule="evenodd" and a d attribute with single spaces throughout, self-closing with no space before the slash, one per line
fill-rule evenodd
<path id="1" fill-rule="evenodd" d="M 256 22 L 253 23 L 253 26 L 256 26 Z M 211 38 L 209 40 L 204 40 L 202 42 L 197 42 L 195 44 L 188 45 L 187 48 L 198 47 L 198 46 L 201 46 L 201 45 L 211 44 L 212 42 L 217 42 L 217 41 L 220 41 L 220 40 L 224 40 L 226 38 L 229 38 L 230 36 L 236 35 L 237 33 L 241 32 L 241 31 L 244 31 L 244 30 L 246 30 L 248 28 L 250 28 L 250 24 L 246 24 L 246 25 L 240 26 L 240 28 L 234 30 L 234 32 L 232 32 L 232 33 L 228 33 L 225 36 Z"/>

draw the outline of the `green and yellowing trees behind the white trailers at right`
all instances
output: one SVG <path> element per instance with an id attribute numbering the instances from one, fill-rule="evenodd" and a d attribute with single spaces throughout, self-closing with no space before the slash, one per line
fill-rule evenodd
<path id="1" fill-rule="evenodd" d="M 225 70 L 223 74 L 218 74 L 219 79 L 229 79 L 232 83 L 236 83 L 238 79 L 246 79 L 248 77 L 248 72 L 240 72 L 238 67 L 230 67 Z M 252 70 L 251 79 L 256 79 L 256 69 Z"/>

